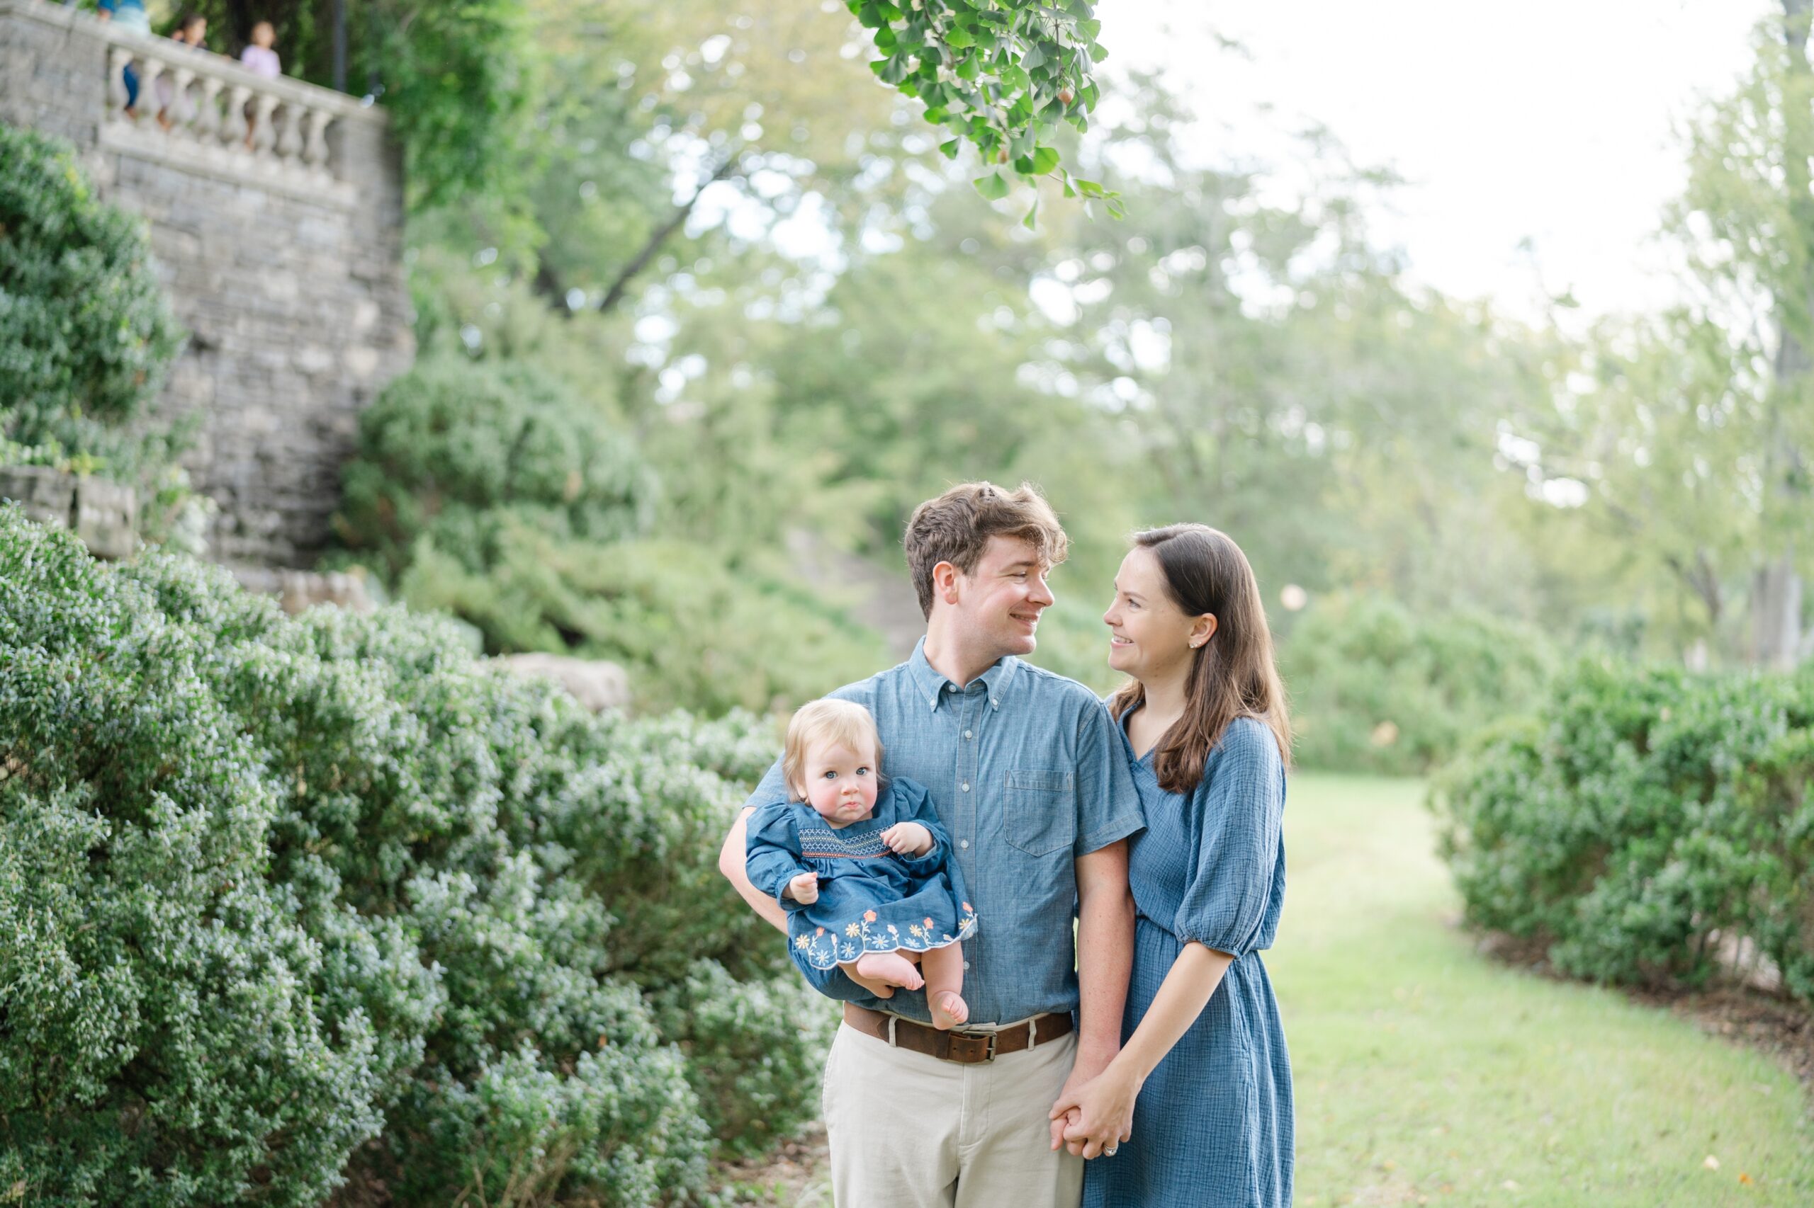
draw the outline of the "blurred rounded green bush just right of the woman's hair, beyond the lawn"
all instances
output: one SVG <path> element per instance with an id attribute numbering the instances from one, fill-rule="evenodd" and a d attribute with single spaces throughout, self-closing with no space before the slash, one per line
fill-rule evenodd
<path id="1" fill-rule="evenodd" d="M 1422 774 L 1542 698 L 1547 637 L 1484 613 L 1415 615 L 1380 595 L 1317 600 L 1279 644 L 1304 767 Z"/>

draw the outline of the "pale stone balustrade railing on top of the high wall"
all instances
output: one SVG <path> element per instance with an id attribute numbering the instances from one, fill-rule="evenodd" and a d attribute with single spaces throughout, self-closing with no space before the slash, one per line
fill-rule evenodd
<path id="1" fill-rule="evenodd" d="M 172 38 L 107 22 L 100 33 L 109 44 L 103 143 L 352 203 L 352 181 L 336 163 L 330 132 L 354 114 L 374 118 L 366 105 L 312 83 L 254 74 Z M 131 111 L 129 67 L 138 76 Z"/>

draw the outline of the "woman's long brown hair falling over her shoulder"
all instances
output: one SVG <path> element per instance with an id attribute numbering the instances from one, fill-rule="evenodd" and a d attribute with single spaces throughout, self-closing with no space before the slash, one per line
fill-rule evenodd
<path id="1" fill-rule="evenodd" d="M 1290 767 L 1292 718 L 1284 684 L 1272 657 L 1259 580 L 1241 546 L 1208 524 L 1150 528 L 1134 533 L 1134 544 L 1159 559 L 1166 591 L 1186 617 L 1215 617 L 1215 633 L 1192 655 L 1185 715 L 1154 745 L 1159 787 L 1168 793 L 1195 789 L 1204 760 L 1237 716 L 1264 722 L 1279 742 L 1279 758 Z M 1108 700 L 1108 711 L 1119 722 L 1145 702 L 1146 689 L 1128 680 Z"/>

